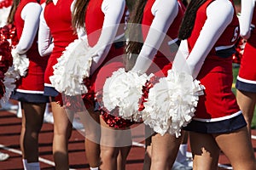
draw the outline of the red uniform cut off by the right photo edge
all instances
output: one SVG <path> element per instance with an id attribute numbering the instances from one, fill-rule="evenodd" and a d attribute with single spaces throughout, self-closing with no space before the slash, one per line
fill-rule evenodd
<path id="1" fill-rule="evenodd" d="M 256 7 L 253 10 L 252 25 L 256 26 Z M 256 31 L 251 31 L 251 37 L 247 39 L 241 58 L 240 69 L 237 77 L 236 88 L 241 91 L 256 93 Z"/>

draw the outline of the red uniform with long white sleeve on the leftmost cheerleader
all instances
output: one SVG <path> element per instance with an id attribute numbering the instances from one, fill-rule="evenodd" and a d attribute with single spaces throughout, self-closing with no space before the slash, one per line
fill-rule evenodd
<path id="1" fill-rule="evenodd" d="M 41 6 L 36 0 L 21 0 L 15 12 L 15 27 L 19 43 L 15 47 L 18 54 L 26 54 L 29 66 L 26 77 L 20 77 L 12 99 L 26 102 L 45 102 L 44 71 L 48 58 L 38 54 L 38 23 Z"/>

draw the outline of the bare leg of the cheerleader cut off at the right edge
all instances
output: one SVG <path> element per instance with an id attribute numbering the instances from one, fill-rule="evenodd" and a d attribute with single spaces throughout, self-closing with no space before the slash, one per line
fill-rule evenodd
<path id="1" fill-rule="evenodd" d="M 256 93 L 236 90 L 236 99 L 247 122 L 247 129 L 249 131 L 249 135 L 251 136 L 253 113 L 256 105 Z"/>

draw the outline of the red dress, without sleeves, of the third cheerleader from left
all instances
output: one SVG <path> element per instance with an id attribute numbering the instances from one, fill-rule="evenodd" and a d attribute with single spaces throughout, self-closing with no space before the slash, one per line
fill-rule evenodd
<path id="1" fill-rule="evenodd" d="M 87 10 L 85 12 L 85 30 L 88 36 L 90 47 L 94 47 L 101 36 L 101 30 L 104 21 L 104 13 L 102 12 L 103 0 L 90 0 Z M 122 14 L 119 30 L 115 40 L 108 52 L 107 57 L 102 62 L 102 65 L 91 76 L 91 89 L 94 93 L 102 91 L 104 83 L 108 77 L 112 76 L 113 71 L 123 68 L 123 59 L 121 56 L 124 54 L 124 33 L 125 33 L 125 14 Z"/>

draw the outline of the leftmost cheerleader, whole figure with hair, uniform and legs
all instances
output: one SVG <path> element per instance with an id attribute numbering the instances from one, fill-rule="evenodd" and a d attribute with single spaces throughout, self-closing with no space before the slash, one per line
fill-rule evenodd
<path id="1" fill-rule="evenodd" d="M 20 149 L 25 169 L 40 169 L 38 133 L 43 124 L 45 105 L 49 101 L 48 97 L 43 95 L 44 70 L 48 58 L 40 57 L 37 44 L 41 10 L 36 0 L 15 0 L 8 17 L 8 23 L 15 25 L 19 39 L 12 49 L 14 64 L 17 60 L 25 61 L 25 65 L 18 65 L 19 68 L 24 67 L 24 70 L 20 71 L 20 79 L 17 80 L 15 91 L 11 95 L 11 99 L 21 103 Z"/>

